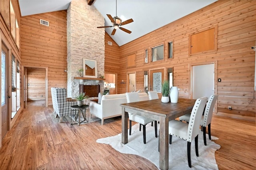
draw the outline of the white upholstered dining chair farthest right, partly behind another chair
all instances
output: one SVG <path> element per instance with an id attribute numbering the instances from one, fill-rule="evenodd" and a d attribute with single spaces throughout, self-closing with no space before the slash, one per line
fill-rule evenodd
<path id="1" fill-rule="evenodd" d="M 208 126 L 208 137 L 210 140 L 212 140 L 212 138 L 211 138 L 212 113 L 213 113 L 215 102 L 218 99 L 218 96 L 219 96 L 218 94 L 214 94 L 214 95 L 210 96 L 210 98 L 206 104 L 206 107 L 204 109 L 204 115 L 202 116 L 201 121 L 200 121 L 200 125 L 203 129 L 204 145 L 205 146 L 207 145 L 206 144 L 206 127 L 207 126 Z M 179 119 L 180 119 L 180 121 L 189 122 L 190 114 L 183 115 Z"/>

